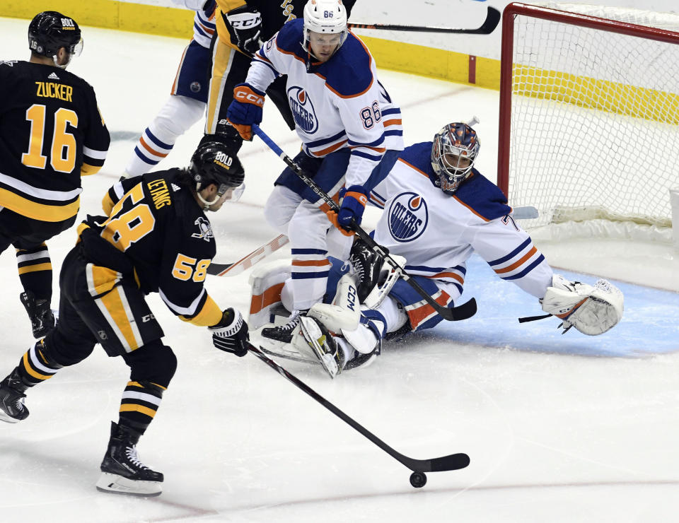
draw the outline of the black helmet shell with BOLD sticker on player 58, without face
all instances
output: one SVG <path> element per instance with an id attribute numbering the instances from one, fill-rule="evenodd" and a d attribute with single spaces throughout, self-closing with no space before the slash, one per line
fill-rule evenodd
<path id="1" fill-rule="evenodd" d="M 245 171 L 238 156 L 219 141 L 206 141 L 198 146 L 191 157 L 189 173 L 198 187 L 214 183 L 220 193 L 228 187 L 238 187 L 245 180 Z M 221 190 L 222 185 L 225 186 L 224 191 Z"/>

